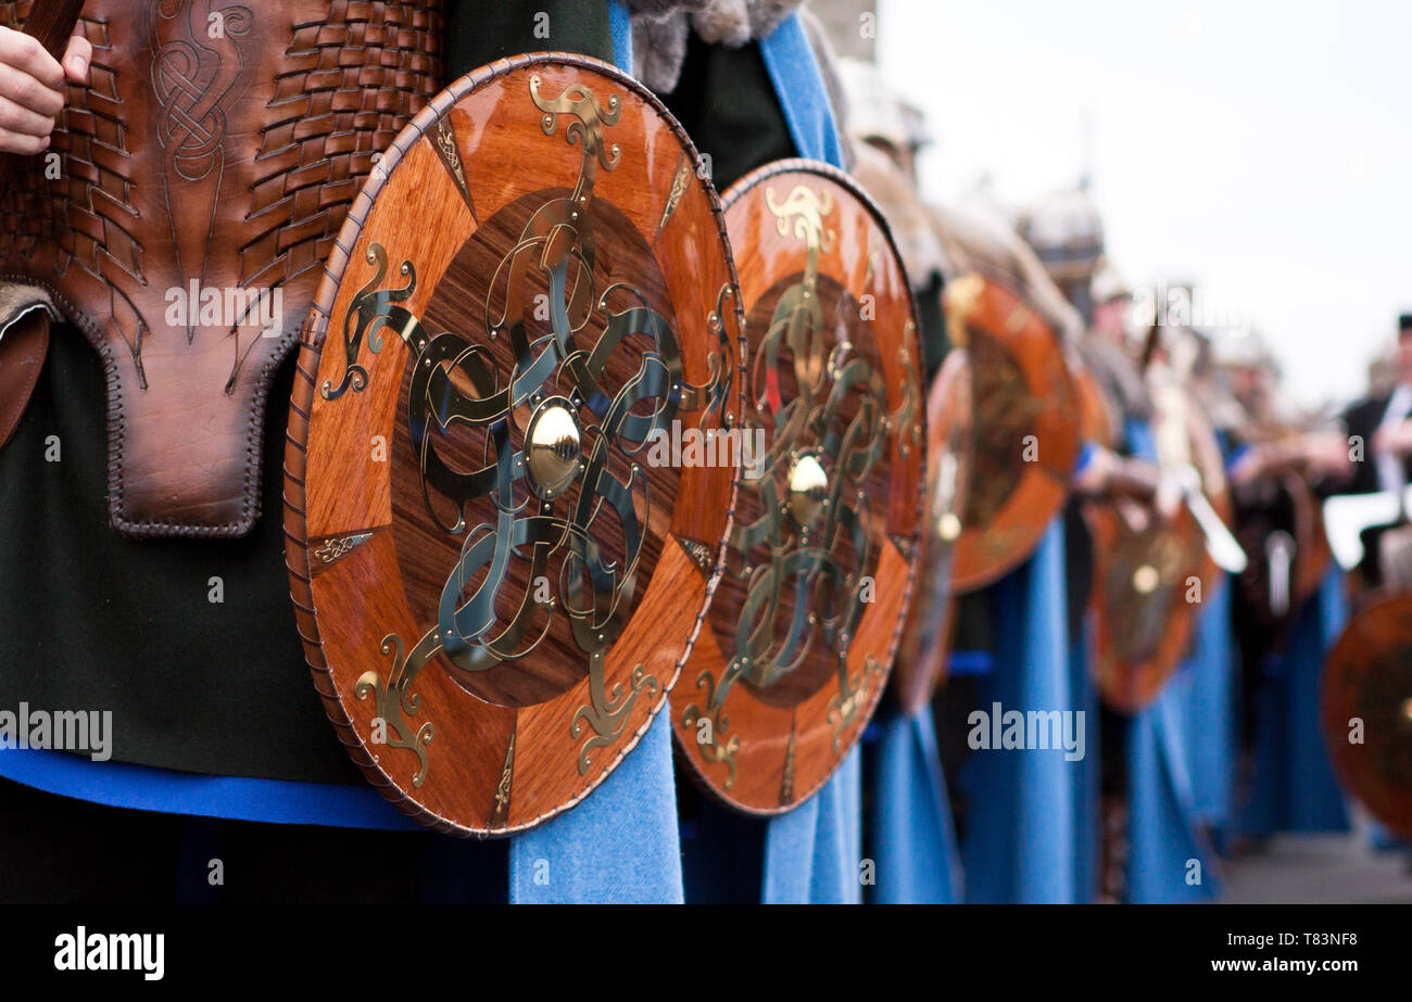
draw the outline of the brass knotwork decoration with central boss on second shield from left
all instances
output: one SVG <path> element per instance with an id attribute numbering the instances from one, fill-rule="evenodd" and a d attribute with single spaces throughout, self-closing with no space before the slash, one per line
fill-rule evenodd
<path id="1" fill-rule="evenodd" d="M 743 426 L 747 433 L 767 430 L 770 447 L 758 478 L 743 485 L 754 494 L 758 517 L 737 524 L 730 541 L 729 559 L 746 579 L 733 648 L 726 645 L 730 662 L 719 676 L 710 669 L 698 676 L 705 699 L 681 717 L 686 728 L 709 721 L 712 740 L 699 747 L 707 761 L 727 768 L 726 789 L 736 782 L 740 741 L 729 732 L 724 708 L 738 683 L 770 689 L 810 652 L 827 651 L 843 694 L 830 710 L 830 723 L 834 713 L 839 720 L 836 742 L 856 720 L 863 683 L 849 676 L 847 659 L 878 559 L 870 528 L 884 517 L 867 480 L 888 453 L 888 428 L 912 421 L 902 411 L 888 414 L 882 373 L 846 334 L 829 344 L 834 332 L 820 303 L 819 255 L 836 240 L 826 224 L 832 195 L 801 183 L 781 200 L 767 188 L 765 205 L 779 234 L 801 240 L 808 258 L 775 302 L 750 360 Z M 792 388 L 788 399 L 785 387 Z"/>

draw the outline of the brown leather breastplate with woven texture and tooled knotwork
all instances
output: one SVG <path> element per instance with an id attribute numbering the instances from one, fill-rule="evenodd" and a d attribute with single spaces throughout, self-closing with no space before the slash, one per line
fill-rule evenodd
<path id="1" fill-rule="evenodd" d="M 0 1 L 0 23 L 28 7 Z M 0 281 L 47 288 L 103 357 L 120 531 L 237 536 L 258 517 L 270 380 L 374 155 L 441 86 L 441 7 L 85 3 L 92 82 L 69 89 L 61 176 L 34 158 L 0 192 Z M 192 282 L 233 312 L 184 323 Z M 241 309 L 271 289 L 261 336 Z"/>

